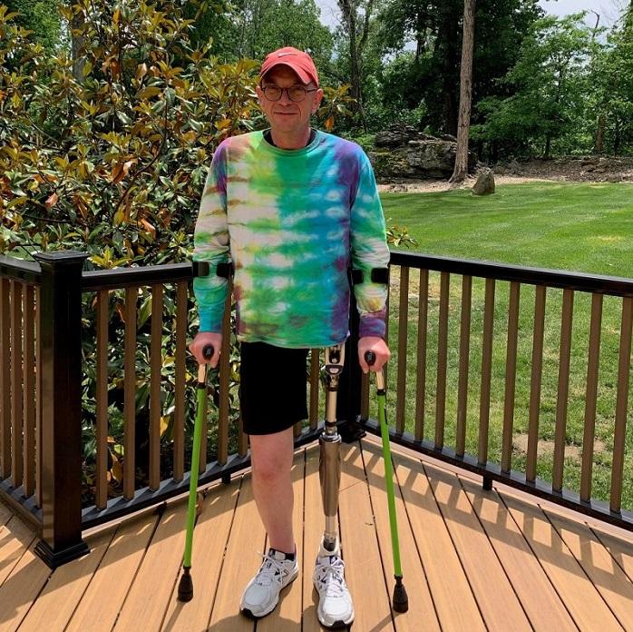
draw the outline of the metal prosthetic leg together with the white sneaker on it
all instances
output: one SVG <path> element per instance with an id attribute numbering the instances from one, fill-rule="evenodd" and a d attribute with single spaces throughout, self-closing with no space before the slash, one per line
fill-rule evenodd
<path id="1" fill-rule="evenodd" d="M 329 628 L 346 627 L 354 620 L 354 606 L 345 583 L 345 564 L 338 539 L 338 490 L 341 480 L 341 437 L 336 430 L 336 391 L 343 372 L 345 345 L 326 349 L 326 424 L 319 437 L 318 474 L 326 529 L 317 555 L 313 582 L 317 588 L 318 620 Z"/>

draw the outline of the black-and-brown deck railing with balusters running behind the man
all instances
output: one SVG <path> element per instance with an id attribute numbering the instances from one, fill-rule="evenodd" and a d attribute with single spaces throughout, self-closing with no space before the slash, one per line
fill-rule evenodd
<path id="1" fill-rule="evenodd" d="M 0 258 L 0 494 L 41 528 L 43 539 L 37 551 L 49 565 L 57 566 L 83 553 L 83 529 L 157 505 L 189 488 L 186 447 L 190 433 L 186 420 L 193 419 L 194 411 L 186 383 L 193 383 L 195 371 L 187 370 L 186 337 L 193 306 L 192 273 L 188 263 L 83 272 L 82 254 L 51 253 L 36 258 L 39 263 Z M 630 469 L 633 458 L 625 440 L 633 280 L 409 252 L 393 252 L 391 268 L 389 341 L 395 357 L 387 382 L 394 387 L 389 402 L 395 411 L 392 439 L 482 474 L 485 487 L 490 487 L 493 479 L 501 480 L 633 529 L 630 508 L 622 509 L 621 501 L 625 464 Z M 412 270 L 419 273 L 412 275 Z M 414 281 L 418 281 L 418 288 L 412 298 Z M 452 284 L 459 291 L 452 293 Z M 530 291 L 534 311 L 526 324 L 525 310 L 520 309 L 521 294 Z M 549 364 L 544 367 L 544 351 L 550 353 L 551 347 L 551 341 L 545 340 L 551 329 L 546 324 L 553 317 L 548 313 L 546 318 L 546 297 L 553 299 L 556 291 L 561 293 L 560 346 L 554 361 L 558 377 L 549 464 L 547 459 L 539 459 L 541 386 L 552 360 L 546 358 Z M 575 494 L 564 489 L 563 482 L 568 469 L 566 430 L 574 296 L 578 293 L 588 293 L 591 306 L 589 331 L 583 338 L 588 342 L 587 379 L 579 493 Z M 605 406 L 599 398 L 604 296 L 621 302 L 612 460 L 608 464 L 609 505 L 592 499 L 591 493 L 597 402 Z M 495 301 L 497 297 L 502 300 Z M 173 303 L 169 313 L 163 310 L 167 303 Z M 86 312 L 86 304 L 92 311 Z M 609 308 L 613 308 L 610 303 Z M 112 335 L 115 310 L 119 324 Z M 351 313 L 354 315 L 355 309 Z M 229 314 L 228 303 L 216 384 L 218 410 L 212 415 L 214 427 L 209 434 L 213 445 L 209 450 L 206 445 L 201 449 L 200 485 L 229 479 L 233 472 L 249 465 L 247 437 L 239 417 L 229 415 L 229 399 L 236 395 L 230 388 Z M 356 327 L 354 317 L 350 341 L 355 339 Z M 609 331 L 611 338 L 612 333 Z M 168 339 L 173 349 L 169 359 L 162 350 Z M 123 366 L 115 370 L 119 371 L 122 397 L 112 403 L 109 384 L 114 369 L 109 359 L 112 345 L 118 344 L 122 345 Z M 531 350 L 526 361 L 528 344 Z M 140 353 L 148 360 L 148 375 L 139 373 Z M 355 349 L 348 349 L 346 357 L 353 359 Z M 297 425 L 297 444 L 317 437 L 319 362 L 319 352 L 313 350 L 309 420 L 304 426 Z M 168 364 L 169 380 L 164 375 Z M 94 504 L 82 509 L 82 426 L 87 415 L 82 410 L 81 385 L 89 370 L 94 381 L 94 410 L 88 415 L 93 421 L 96 448 Z M 348 362 L 345 376 L 338 418 L 349 423 L 357 418 L 366 420 L 365 430 L 377 432 L 366 376 L 361 375 L 356 362 Z M 142 388 L 149 390 L 148 414 L 143 417 L 147 427 L 142 429 L 147 431 L 149 443 L 144 484 L 139 483 L 135 463 L 140 380 Z M 493 388 L 498 380 L 503 383 L 503 396 L 495 399 L 491 394 L 499 391 Z M 530 382 L 529 397 L 521 402 L 515 399 L 518 380 L 523 386 L 526 380 Z M 169 413 L 165 410 L 167 400 L 171 402 Z M 122 493 L 108 498 L 112 495 L 107 479 L 112 466 L 108 464 L 108 442 L 112 411 L 117 406 L 122 417 Z M 429 422 L 432 415 L 433 424 Z M 600 410 L 601 422 L 605 416 L 609 418 L 609 412 Z M 165 456 L 161 424 L 167 417 L 172 418 L 173 440 L 167 455 L 170 474 L 165 476 L 161 474 L 165 471 L 161 469 L 161 456 Z M 525 454 L 517 455 L 513 448 L 520 425 L 515 417 L 525 418 L 527 424 Z M 207 459 L 209 453 L 213 459 Z"/>

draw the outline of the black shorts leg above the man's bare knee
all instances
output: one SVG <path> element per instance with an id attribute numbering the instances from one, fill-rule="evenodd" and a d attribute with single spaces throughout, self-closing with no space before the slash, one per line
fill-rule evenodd
<path id="1" fill-rule="evenodd" d="M 307 349 L 242 342 L 239 402 L 244 432 L 267 435 L 307 419 Z"/>

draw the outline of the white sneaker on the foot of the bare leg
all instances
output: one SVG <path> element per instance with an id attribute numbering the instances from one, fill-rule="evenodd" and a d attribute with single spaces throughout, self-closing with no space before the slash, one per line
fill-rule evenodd
<path id="1" fill-rule="evenodd" d="M 279 591 L 297 578 L 299 565 L 295 559 L 286 559 L 281 551 L 268 550 L 258 574 L 248 582 L 239 609 L 251 618 L 266 617 L 277 607 Z"/>

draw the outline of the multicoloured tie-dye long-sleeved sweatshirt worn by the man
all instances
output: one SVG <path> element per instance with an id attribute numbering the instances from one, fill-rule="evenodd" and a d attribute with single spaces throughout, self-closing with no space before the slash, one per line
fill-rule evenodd
<path id="1" fill-rule="evenodd" d="M 348 334 L 347 268 L 360 336 L 385 335 L 386 286 L 370 280 L 389 251 L 374 172 L 363 150 L 317 131 L 307 147 L 279 149 L 262 132 L 219 144 L 195 230 L 194 280 L 200 331 L 221 331 L 227 281 L 213 271 L 233 262 L 240 341 L 278 347 L 326 347 Z"/>

